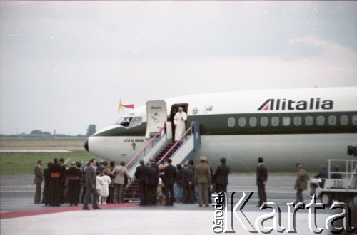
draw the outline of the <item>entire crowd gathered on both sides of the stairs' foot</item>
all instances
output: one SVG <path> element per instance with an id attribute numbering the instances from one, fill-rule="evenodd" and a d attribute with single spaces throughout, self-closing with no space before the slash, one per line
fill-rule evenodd
<path id="1" fill-rule="evenodd" d="M 126 185 L 132 180 L 123 161 L 115 166 L 114 162 L 108 165 L 108 162 L 101 160 L 98 164 L 93 159 L 84 165 L 71 162 L 68 167 L 64 159 L 54 158 L 43 170 L 42 164 L 42 160 L 39 160 L 34 170 L 34 202 L 46 206 L 59 207 L 65 203 L 77 206 L 83 203 L 83 209 L 89 209 L 88 204 L 92 203 L 94 209 L 100 209 L 100 204 L 121 204 L 124 203 Z M 229 173 L 225 158 L 221 158 L 221 165 L 214 174 L 206 157 L 200 157 L 200 164 L 196 166 L 193 160 L 173 166 L 169 159 L 165 167 L 156 164 L 152 158 L 146 163 L 141 160 L 135 172 L 139 186 L 139 205 L 172 206 L 174 202 L 198 202 L 199 206 L 208 206 L 211 192 L 226 192 Z M 41 193 L 42 182 L 44 191 Z"/>

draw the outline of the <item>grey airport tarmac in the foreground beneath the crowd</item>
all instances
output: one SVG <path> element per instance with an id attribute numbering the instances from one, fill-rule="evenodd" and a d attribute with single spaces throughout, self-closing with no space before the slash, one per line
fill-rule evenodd
<path id="1" fill-rule="evenodd" d="M 331 234 L 331 226 L 326 227 L 329 224 L 326 221 L 331 221 L 328 219 L 338 214 L 336 209 L 318 209 L 318 205 L 313 204 L 311 209 L 299 209 L 294 217 L 294 209 L 288 203 L 295 202 L 295 179 L 292 176 L 268 178 L 266 192 L 271 204 L 266 209 L 256 207 L 258 194 L 255 176 L 231 175 L 223 210 L 221 204 L 215 205 L 213 200 L 210 207 L 181 203 L 175 203 L 172 207 L 139 207 L 137 202 L 129 202 L 101 205 L 100 210 L 83 211 L 81 205 L 45 207 L 43 204 L 34 204 L 33 176 L 1 176 L 0 231 L 1 234 L 51 235 L 215 234 L 223 231 L 236 234 L 288 234 L 288 231 L 315 234 L 322 229 L 321 234 Z M 250 194 L 251 198 L 248 199 Z M 311 198 L 307 197 L 306 192 L 304 195 L 305 204 L 308 205 Z M 353 209 L 351 216 L 356 215 Z M 340 221 L 342 223 L 343 219 Z M 337 224 L 334 227 L 338 227 Z M 282 229 L 283 232 L 278 232 Z"/>

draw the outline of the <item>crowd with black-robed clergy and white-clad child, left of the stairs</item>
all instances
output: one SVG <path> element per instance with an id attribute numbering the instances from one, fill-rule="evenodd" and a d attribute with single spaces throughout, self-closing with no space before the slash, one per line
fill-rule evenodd
<path id="1" fill-rule="evenodd" d="M 94 189 L 98 193 L 98 204 L 114 203 L 114 162 L 102 160 L 99 164 L 93 161 L 82 165 L 80 162 L 71 162 L 70 167 L 64 163 L 64 159 L 54 158 L 42 170 L 42 160 L 37 161 L 34 169 L 36 184 L 35 204 L 59 207 L 69 203 L 77 206 L 84 202 L 86 196 L 86 182 L 89 181 L 88 169 L 94 169 Z M 91 168 L 90 168 L 91 167 Z M 44 182 L 44 191 L 41 193 L 41 184 Z M 42 196 L 42 199 L 41 199 Z M 89 199 L 90 201 L 91 199 Z"/>

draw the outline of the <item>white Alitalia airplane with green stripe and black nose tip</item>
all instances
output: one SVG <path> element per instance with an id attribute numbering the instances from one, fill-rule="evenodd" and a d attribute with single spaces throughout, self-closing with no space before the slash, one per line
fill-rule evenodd
<path id="1" fill-rule="evenodd" d="M 317 172 L 327 159 L 346 159 L 357 145 L 357 87 L 246 90 L 186 95 L 153 100 L 96 132 L 87 151 L 106 160 L 128 162 L 174 109 L 187 113 L 187 125 L 198 122 L 201 147 L 213 167 L 221 157 L 232 172 L 256 172 L 263 157 L 270 172 L 295 172 L 296 163 Z M 149 113 L 148 113 L 149 112 Z M 342 167 L 342 166 L 340 166 Z"/>

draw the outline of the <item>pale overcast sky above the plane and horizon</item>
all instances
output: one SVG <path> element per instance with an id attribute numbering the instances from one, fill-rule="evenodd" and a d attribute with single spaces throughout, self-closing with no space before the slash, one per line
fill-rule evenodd
<path id="1" fill-rule="evenodd" d="M 357 85 L 357 1 L 0 1 L 0 133 L 86 134 L 119 99 Z"/>

